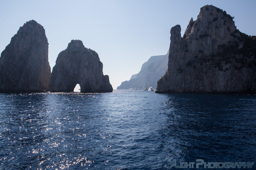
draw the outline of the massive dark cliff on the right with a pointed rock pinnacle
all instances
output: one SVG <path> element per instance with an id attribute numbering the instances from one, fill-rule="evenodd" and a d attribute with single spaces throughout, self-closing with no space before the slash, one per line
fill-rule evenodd
<path id="1" fill-rule="evenodd" d="M 156 92 L 256 93 L 256 38 L 237 30 L 225 11 L 205 5 L 183 37 L 176 25 L 170 39 Z"/>

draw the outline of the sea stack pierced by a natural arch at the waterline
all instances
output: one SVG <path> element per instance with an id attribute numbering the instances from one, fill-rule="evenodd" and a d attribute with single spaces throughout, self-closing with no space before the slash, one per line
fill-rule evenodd
<path id="1" fill-rule="evenodd" d="M 85 48 L 80 40 L 71 40 L 53 67 L 51 91 L 70 92 L 79 84 L 81 92 L 112 92 L 109 76 L 103 75 L 102 69 L 95 51 Z"/>

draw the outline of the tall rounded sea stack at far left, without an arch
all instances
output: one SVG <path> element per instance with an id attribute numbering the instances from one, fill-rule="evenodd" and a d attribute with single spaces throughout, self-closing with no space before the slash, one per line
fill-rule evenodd
<path id="1" fill-rule="evenodd" d="M 36 21 L 28 21 L 1 53 L 0 91 L 48 91 L 50 77 L 45 30 Z"/>

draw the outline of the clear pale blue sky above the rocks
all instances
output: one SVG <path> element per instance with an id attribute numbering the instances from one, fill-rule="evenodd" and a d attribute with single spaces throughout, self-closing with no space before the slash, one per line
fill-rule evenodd
<path id="1" fill-rule="evenodd" d="M 45 29 L 51 69 L 68 43 L 80 39 L 99 54 L 116 89 L 151 56 L 166 54 L 170 29 L 180 24 L 183 36 L 207 4 L 234 17 L 241 32 L 256 35 L 255 0 L 0 0 L 0 52 L 33 19 Z"/>

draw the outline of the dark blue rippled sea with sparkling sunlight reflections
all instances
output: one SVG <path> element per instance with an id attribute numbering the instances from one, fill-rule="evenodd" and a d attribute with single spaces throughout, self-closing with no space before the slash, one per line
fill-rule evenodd
<path id="1" fill-rule="evenodd" d="M 114 90 L 0 99 L 1 170 L 256 168 L 256 95 Z"/>

